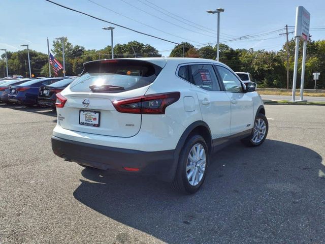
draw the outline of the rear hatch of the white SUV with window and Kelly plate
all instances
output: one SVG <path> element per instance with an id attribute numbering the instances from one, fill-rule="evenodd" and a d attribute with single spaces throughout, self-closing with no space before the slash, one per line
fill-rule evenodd
<path id="1" fill-rule="evenodd" d="M 161 69 L 137 59 L 86 63 L 82 75 L 62 92 L 67 102 L 57 110 L 59 124 L 64 129 L 105 136 L 136 135 L 141 114 L 118 112 L 112 102 L 145 95 Z"/>

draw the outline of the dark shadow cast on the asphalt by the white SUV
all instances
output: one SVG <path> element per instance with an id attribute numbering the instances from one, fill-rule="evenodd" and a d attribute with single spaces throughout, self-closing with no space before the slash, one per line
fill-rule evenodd
<path id="1" fill-rule="evenodd" d="M 275 243 L 279 236 L 290 242 L 298 233 L 309 242 L 325 223 L 321 162 L 315 151 L 282 141 L 235 143 L 212 157 L 205 184 L 194 195 L 173 192 L 151 177 L 89 168 L 73 195 L 168 243 Z"/>

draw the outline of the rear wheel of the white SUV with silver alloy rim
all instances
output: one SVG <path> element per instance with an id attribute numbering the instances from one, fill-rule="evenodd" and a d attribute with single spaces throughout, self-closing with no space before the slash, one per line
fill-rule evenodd
<path id="1" fill-rule="evenodd" d="M 202 149 L 204 149 L 202 157 L 199 156 L 199 159 L 196 158 L 196 154 L 193 154 L 194 151 L 192 151 L 192 148 L 199 148 L 200 153 L 202 152 Z M 190 156 L 192 159 L 196 159 L 196 162 L 194 162 L 195 160 L 191 160 Z M 184 194 L 196 193 L 205 180 L 209 165 L 209 156 L 208 146 L 204 138 L 200 135 L 190 136 L 182 148 L 176 175 L 174 180 L 171 182 L 171 187 Z M 190 168 L 188 171 L 186 171 L 187 167 Z M 192 172 L 191 176 L 190 172 Z M 193 178 L 194 174 L 195 177 Z"/>

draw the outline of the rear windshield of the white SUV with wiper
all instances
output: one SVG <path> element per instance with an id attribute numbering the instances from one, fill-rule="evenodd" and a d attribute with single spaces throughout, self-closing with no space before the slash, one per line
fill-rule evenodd
<path id="1" fill-rule="evenodd" d="M 82 75 L 71 83 L 70 89 L 72 92 L 120 93 L 151 84 L 160 71 L 159 66 L 143 60 L 101 60 L 85 64 Z"/>

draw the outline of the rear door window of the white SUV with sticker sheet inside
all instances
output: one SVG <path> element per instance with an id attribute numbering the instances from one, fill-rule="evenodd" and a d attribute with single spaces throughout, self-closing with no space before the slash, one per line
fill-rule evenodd
<path id="1" fill-rule="evenodd" d="M 190 67 L 194 85 L 205 90 L 221 90 L 212 65 L 191 65 Z"/>

